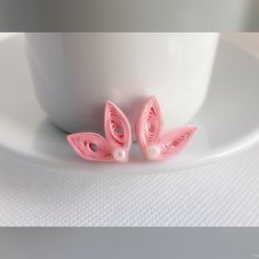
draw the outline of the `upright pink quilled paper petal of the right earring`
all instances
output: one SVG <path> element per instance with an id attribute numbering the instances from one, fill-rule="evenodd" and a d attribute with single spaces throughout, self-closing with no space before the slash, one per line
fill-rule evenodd
<path id="1" fill-rule="evenodd" d="M 158 101 L 155 97 L 149 97 L 136 123 L 136 137 L 143 149 L 158 142 L 162 125 Z"/>

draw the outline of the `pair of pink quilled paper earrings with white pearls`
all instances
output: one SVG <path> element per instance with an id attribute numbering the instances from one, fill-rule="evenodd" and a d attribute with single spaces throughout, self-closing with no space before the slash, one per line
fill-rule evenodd
<path id="1" fill-rule="evenodd" d="M 137 142 L 147 160 L 162 160 L 178 155 L 191 140 L 196 127 L 184 126 L 162 134 L 162 115 L 155 97 L 148 98 L 135 125 Z M 124 113 L 112 102 L 106 102 L 104 113 L 106 138 L 95 133 L 77 133 L 67 136 L 75 151 L 87 160 L 128 160 L 132 130 Z"/>

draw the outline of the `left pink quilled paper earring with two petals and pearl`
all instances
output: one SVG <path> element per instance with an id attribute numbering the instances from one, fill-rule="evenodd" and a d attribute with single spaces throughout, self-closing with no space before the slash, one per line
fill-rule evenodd
<path id="1" fill-rule="evenodd" d="M 68 135 L 67 139 L 83 159 L 126 162 L 132 144 L 131 126 L 123 112 L 110 101 L 105 105 L 104 130 L 106 138 L 89 132 Z"/>

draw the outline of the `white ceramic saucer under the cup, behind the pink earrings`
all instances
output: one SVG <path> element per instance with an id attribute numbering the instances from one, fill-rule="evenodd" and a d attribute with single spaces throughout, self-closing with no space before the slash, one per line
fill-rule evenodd
<path id="1" fill-rule="evenodd" d="M 21 35 L 0 42 L 0 154 L 46 170 L 172 172 L 233 154 L 259 140 L 259 59 L 223 38 L 207 99 L 190 122 L 199 126 L 199 133 L 180 156 L 162 162 L 144 161 L 136 144 L 131 161 L 125 165 L 88 162 L 77 157 L 66 135 L 47 121 L 34 98 Z"/>

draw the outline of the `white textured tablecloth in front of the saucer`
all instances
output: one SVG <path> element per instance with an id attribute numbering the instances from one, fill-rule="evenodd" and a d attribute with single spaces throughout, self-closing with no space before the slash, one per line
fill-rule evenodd
<path id="1" fill-rule="evenodd" d="M 259 145 L 151 176 L 29 171 L 0 160 L 1 226 L 259 225 Z"/>

